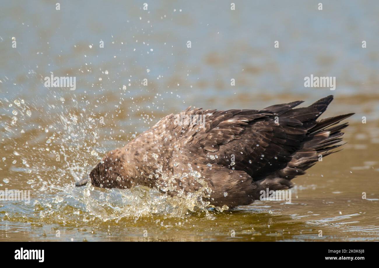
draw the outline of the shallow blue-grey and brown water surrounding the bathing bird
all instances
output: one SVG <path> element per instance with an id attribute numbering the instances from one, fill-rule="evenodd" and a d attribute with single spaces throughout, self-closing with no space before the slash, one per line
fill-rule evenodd
<path id="1" fill-rule="evenodd" d="M 31 201 L 0 201 L 0 241 L 378 241 L 379 5 L 312 5 L 3 3 L 0 190 L 30 190 Z M 77 89 L 44 87 L 51 72 L 75 76 Z M 336 76 L 336 90 L 305 88 L 310 74 Z M 189 105 L 259 109 L 330 94 L 327 117 L 356 112 L 348 143 L 294 179 L 291 204 L 219 212 L 149 189 L 74 187 L 106 151 Z"/>

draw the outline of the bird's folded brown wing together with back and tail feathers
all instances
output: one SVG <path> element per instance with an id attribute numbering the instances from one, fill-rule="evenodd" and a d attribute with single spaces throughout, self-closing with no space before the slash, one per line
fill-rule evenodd
<path id="1" fill-rule="evenodd" d="M 332 99 L 328 96 L 304 108 L 294 108 L 302 101 L 263 110 L 188 108 L 184 112 L 189 116 L 205 115 L 205 127 L 176 125 L 169 131 L 176 138 L 174 146 L 189 151 L 199 163 L 245 171 L 254 181 L 270 176 L 291 179 L 304 174 L 318 153 L 327 155 L 340 146 L 335 143 L 346 124 L 326 128 L 351 114 L 316 121 Z M 171 123 L 174 117 L 169 116 Z"/>

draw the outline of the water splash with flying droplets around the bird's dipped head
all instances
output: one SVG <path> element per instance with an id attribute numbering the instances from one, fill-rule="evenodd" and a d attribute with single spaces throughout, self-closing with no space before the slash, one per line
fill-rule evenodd
<path id="1" fill-rule="evenodd" d="M 209 215 L 209 203 L 202 198 L 210 189 L 196 170 L 183 176 L 194 179 L 203 187 L 197 192 L 182 192 L 175 197 L 161 193 L 172 189 L 177 176 L 165 174 L 160 165 L 157 165 L 155 176 L 161 176 L 166 182 L 160 188 L 161 192 L 146 187 L 95 189 L 91 184 L 75 188 L 74 181 L 88 176 L 108 151 L 102 141 L 109 144 L 109 149 L 120 141 L 115 142 L 112 136 L 101 139 L 100 133 L 107 131 L 100 123 L 99 114 L 91 111 L 89 101 L 79 104 L 75 97 L 70 101 L 73 103 L 71 107 L 64 105 L 67 101 L 63 97 L 55 97 L 44 107 L 19 99 L 0 101 L 0 109 L 4 112 L 0 118 L 1 134 L 6 144 L 0 152 L 5 163 L 3 169 L 10 177 L 4 182 L 11 187 L 32 190 L 33 211 L 39 214 L 36 222 L 60 221 L 64 218 L 62 209 L 82 215 L 84 221 L 119 221 L 125 217 L 138 220 L 149 215 Z M 117 120 L 111 118 L 110 125 L 117 125 Z M 109 134 L 112 133 L 110 129 Z M 153 158 L 157 159 L 158 155 Z"/>

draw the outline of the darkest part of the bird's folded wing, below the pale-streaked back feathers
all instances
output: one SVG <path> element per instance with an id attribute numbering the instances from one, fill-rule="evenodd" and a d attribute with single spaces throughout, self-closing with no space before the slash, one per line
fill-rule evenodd
<path id="1" fill-rule="evenodd" d="M 254 180 L 286 167 L 291 155 L 301 148 L 307 129 L 293 118 L 278 116 L 276 122 L 276 116 L 250 121 L 235 139 L 213 145 L 216 151 L 204 147 L 207 161 L 245 171 Z"/>

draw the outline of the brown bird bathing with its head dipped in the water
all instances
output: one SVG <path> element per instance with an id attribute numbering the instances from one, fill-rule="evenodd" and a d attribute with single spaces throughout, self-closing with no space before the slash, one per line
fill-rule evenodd
<path id="1" fill-rule="evenodd" d="M 248 205 L 261 190 L 290 189 L 320 155 L 341 146 L 348 123 L 338 123 L 353 113 L 316 120 L 332 100 L 303 108 L 294 108 L 303 101 L 262 110 L 189 107 L 108 152 L 89 178 L 96 187 L 145 185 L 179 197 L 202 191 L 216 207 Z"/>

